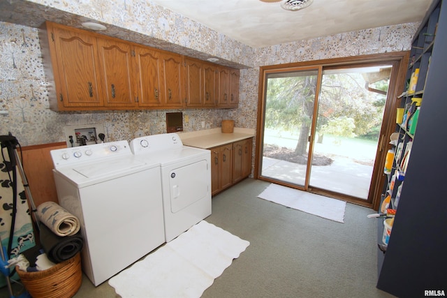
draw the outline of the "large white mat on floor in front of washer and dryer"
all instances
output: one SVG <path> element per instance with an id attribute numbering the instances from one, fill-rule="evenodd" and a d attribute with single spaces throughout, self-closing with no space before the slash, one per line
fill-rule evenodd
<path id="1" fill-rule="evenodd" d="M 200 221 L 110 278 L 109 284 L 123 298 L 200 297 L 249 245 L 249 241 Z"/>

